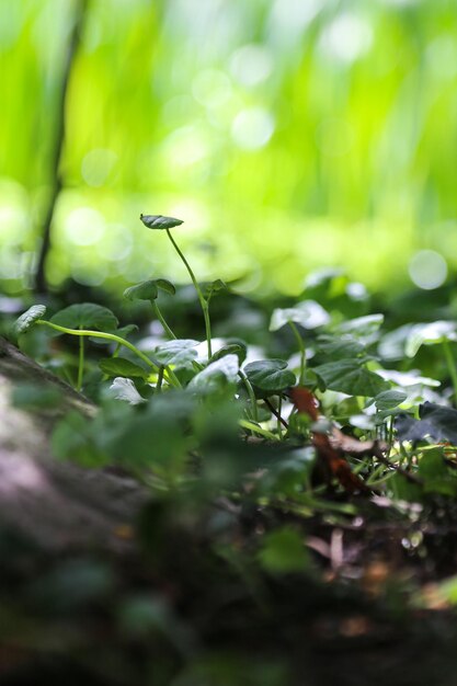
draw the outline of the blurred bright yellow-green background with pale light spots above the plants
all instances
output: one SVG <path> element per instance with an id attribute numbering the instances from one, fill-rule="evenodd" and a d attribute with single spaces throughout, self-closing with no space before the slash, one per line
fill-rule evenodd
<path id="1" fill-rule="evenodd" d="M 0 0 L 0 281 L 32 283 L 75 0 Z M 90 0 L 47 275 L 300 291 L 457 266 L 455 0 Z M 448 276 L 449 278 L 449 276 Z"/>

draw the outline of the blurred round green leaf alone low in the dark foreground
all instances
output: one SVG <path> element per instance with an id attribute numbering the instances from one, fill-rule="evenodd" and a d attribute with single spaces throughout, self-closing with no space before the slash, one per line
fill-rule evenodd
<path id="1" fill-rule="evenodd" d="M 305 572 L 310 564 L 302 536 L 288 526 L 265 534 L 259 560 L 273 574 Z"/>

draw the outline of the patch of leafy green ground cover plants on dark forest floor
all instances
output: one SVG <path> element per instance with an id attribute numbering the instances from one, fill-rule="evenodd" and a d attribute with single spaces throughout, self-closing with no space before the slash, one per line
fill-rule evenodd
<path id="1" fill-rule="evenodd" d="M 249 301 L 198 283 L 181 220 L 140 218 L 170 240 L 194 298 L 153 275 L 125 290 L 122 327 L 98 302 L 35 302 L 11 327 L 95 407 L 58 421 L 54 459 L 148 492 L 119 531 L 129 564 L 68 559 L 21 588 L 30 641 L 37 616 L 52 631 L 70 617 L 60 655 L 94 683 L 454 684 L 452 299 L 412 321 L 408 302 L 376 311 L 327 271 L 296 301 Z M 18 386 L 14 402 L 59 399 Z"/>

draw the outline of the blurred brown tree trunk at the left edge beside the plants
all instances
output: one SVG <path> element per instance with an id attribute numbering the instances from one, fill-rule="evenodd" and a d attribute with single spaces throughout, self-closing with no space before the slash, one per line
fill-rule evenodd
<path id="1" fill-rule="evenodd" d="M 58 389 L 58 411 L 11 403 L 18 384 Z M 53 458 L 50 433 L 66 411 L 95 407 L 0 338 L 0 522 L 52 551 L 132 546 L 128 526 L 147 494 L 137 482 Z"/>

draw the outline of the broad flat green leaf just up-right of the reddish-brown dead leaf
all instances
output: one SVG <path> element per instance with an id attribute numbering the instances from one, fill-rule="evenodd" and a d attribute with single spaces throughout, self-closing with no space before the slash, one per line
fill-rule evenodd
<path id="1" fill-rule="evenodd" d="M 312 369 L 325 388 L 338 390 L 349 396 L 365 396 L 374 398 L 384 390 L 389 389 L 389 384 L 374 371 L 369 371 L 355 359 L 340 359 L 319 365 Z"/>

